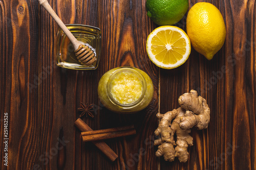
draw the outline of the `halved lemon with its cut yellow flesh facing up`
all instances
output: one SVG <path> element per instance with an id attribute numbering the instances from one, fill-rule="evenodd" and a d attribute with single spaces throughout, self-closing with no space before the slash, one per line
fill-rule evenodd
<path id="1" fill-rule="evenodd" d="M 175 26 L 156 28 L 146 40 L 146 51 L 158 67 L 172 69 L 183 64 L 191 51 L 187 34 Z"/>

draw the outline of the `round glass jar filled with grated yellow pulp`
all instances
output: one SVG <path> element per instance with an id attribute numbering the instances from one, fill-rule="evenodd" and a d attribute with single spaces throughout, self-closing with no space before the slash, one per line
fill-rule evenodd
<path id="1" fill-rule="evenodd" d="M 135 113 L 147 107 L 154 86 L 151 78 L 134 67 L 117 67 L 107 71 L 98 84 L 101 103 L 116 113 Z"/>

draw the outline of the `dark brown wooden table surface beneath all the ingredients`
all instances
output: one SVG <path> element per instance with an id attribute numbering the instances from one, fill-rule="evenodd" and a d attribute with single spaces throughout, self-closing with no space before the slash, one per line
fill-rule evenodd
<path id="1" fill-rule="evenodd" d="M 256 169 L 256 2 L 205 0 L 222 13 L 226 41 L 208 61 L 195 50 L 180 67 L 155 66 L 146 38 L 157 26 L 143 1 L 50 0 L 64 23 L 102 31 L 99 67 L 77 71 L 56 66 L 58 26 L 37 0 L 0 0 L 1 169 Z M 189 1 L 189 8 L 197 2 Z M 186 17 L 176 26 L 186 29 Z M 137 114 L 120 115 L 100 105 L 97 84 L 104 72 L 134 66 L 154 83 L 154 99 Z M 157 158 L 156 113 L 179 107 L 179 95 L 198 90 L 211 111 L 206 130 L 191 131 L 194 145 L 180 163 Z M 134 124 L 137 134 L 105 142 L 118 154 L 111 162 L 74 127 L 80 103 L 95 104 L 94 130 Z M 4 165 L 4 113 L 8 113 L 8 166 Z M 66 145 L 59 153 L 59 139 Z M 66 156 L 64 167 L 57 160 Z"/>

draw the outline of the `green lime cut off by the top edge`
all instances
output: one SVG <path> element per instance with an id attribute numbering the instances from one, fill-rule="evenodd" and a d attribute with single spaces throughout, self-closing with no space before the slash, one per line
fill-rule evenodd
<path id="1" fill-rule="evenodd" d="M 188 9 L 188 0 L 147 0 L 146 11 L 157 25 L 174 25 Z"/>

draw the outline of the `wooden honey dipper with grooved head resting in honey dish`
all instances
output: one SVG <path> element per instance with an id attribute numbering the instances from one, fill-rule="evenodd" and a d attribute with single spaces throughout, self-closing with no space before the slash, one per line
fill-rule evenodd
<path id="1" fill-rule="evenodd" d="M 82 44 L 76 39 L 76 37 L 74 37 L 74 35 L 69 31 L 65 24 L 60 20 L 58 15 L 54 12 L 47 0 L 38 0 L 38 2 L 48 11 L 48 13 L 57 22 L 63 32 L 65 32 L 65 34 L 69 37 L 71 43 L 74 45 L 75 54 L 78 61 L 86 66 L 93 64 L 96 61 L 96 57 L 92 48 L 90 48 L 88 45 Z"/>

